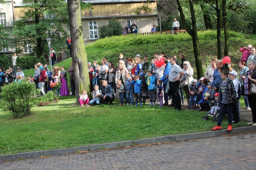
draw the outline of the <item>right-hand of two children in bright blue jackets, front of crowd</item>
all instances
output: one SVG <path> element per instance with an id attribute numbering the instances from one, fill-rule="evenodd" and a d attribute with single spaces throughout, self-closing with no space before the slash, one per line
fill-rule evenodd
<path id="1" fill-rule="evenodd" d="M 146 80 L 146 83 L 148 88 L 148 96 L 150 97 L 150 106 L 155 106 L 156 105 L 156 95 L 155 95 L 156 77 L 153 75 L 153 71 L 148 71 L 147 75 L 148 75 L 148 78 Z"/>

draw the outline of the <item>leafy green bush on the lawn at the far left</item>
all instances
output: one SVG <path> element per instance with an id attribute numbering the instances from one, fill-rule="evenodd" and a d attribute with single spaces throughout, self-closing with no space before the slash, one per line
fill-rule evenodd
<path id="1" fill-rule="evenodd" d="M 34 84 L 24 81 L 8 84 L 1 89 L 2 106 L 9 110 L 15 119 L 30 115 L 34 104 L 32 96 L 36 91 Z"/>

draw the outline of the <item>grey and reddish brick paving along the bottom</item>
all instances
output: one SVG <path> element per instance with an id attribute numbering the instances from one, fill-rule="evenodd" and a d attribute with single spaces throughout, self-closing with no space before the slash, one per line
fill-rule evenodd
<path id="1" fill-rule="evenodd" d="M 10 169 L 256 169 L 256 133 L 1 163 Z"/>

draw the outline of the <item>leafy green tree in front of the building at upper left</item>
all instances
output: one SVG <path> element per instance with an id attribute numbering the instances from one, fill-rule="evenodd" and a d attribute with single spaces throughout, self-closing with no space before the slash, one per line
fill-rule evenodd
<path id="1" fill-rule="evenodd" d="M 48 53 L 45 38 L 52 38 L 56 51 L 65 47 L 68 24 L 67 3 L 64 0 L 24 0 L 21 13 L 24 16 L 15 21 L 12 37 L 17 51 L 24 46 L 34 46 L 38 58 Z M 61 36 L 60 36 L 61 35 Z"/>

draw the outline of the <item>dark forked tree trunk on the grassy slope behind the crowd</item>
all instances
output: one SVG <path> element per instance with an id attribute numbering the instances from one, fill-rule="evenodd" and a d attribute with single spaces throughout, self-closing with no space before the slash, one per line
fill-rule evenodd
<path id="1" fill-rule="evenodd" d="M 197 37 L 196 18 L 195 18 L 193 2 L 189 0 L 189 7 L 190 7 L 191 21 L 192 21 L 192 29 L 190 29 L 185 20 L 185 15 L 182 10 L 181 1 L 180 0 L 176 0 L 176 1 L 178 4 L 178 10 L 180 11 L 183 27 L 185 28 L 187 33 L 192 37 L 195 62 L 196 62 L 196 68 L 197 68 L 197 78 L 200 78 L 203 76 L 203 68 L 202 68 L 202 62 L 201 62 L 201 56 L 200 56 L 199 41 Z"/>

